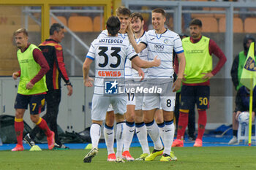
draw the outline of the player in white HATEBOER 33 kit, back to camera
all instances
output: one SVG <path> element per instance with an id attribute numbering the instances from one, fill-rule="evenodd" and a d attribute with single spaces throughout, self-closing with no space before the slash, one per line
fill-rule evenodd
<path id="1" fill-rule="evenodd" d="M 124 121 L 127 97 L 124 93 L 121 93 L 121 89 L 124 88 L 124 63 L 126 58 L 142 68 L 159 66 L 161 62 L 157 57 L 154 58 L 154 61 L 141 60 L 132 50 L 129 42 L 118 37 L 120 29 L 118 18 L 108 18 L 106 27 L 108 36 L 102 39 L 94 39 L 83 63 L 83 80 L 86 87 L 93 86 L 92 79 L 89 77 L 89 69 L 94 60 L 96 70 L 91 110 L 90 136 L 92 149 L 83 158 L 84 163 L 90 163 L 91 159 L 97 155 L 100 129 L 102 121 L 105 120 L 109 104 L 113 106 L 117 122 Z M 117 152 L 116 156 L 117 162 L 124 162 L 121 158 L 121 152 Z"/>

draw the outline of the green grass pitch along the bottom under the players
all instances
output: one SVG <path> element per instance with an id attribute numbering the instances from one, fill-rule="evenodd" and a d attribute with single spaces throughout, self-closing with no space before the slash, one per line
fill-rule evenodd
<path id="1" fill-rule="evenodd" d="M 153 148 L 151 148 L 153 150 Z M 42 150 L 41 152 L 0 151 L 1 170 L 30 169 L 88 169 L 88 170 L 164 170 L 164 169 L 256 169 L 256 147 L 174 147 L 178 161 L 134 161 L 126 163 L 107 162 L 107 150 L 99 149 L 91 163 L 83 163 L 89 150 Z M 140 147 L 130 148 L 138 158 Z"/>

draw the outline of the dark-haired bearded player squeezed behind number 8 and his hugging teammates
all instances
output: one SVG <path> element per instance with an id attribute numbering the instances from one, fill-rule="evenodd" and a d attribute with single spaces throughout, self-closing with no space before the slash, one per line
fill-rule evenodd
<path id="1" fill-rule="evenodd" d="M 130 16 L 131 18 L 131 26 L 132 31 L 135 34 L 136 42 L 139 43 L 141 38 L 145 36 L 145 31 L 143 30 L 143 17 L 138 12 L 132 13 Z M 141 59 L 148 61 L 148 50 L 144 49 L 142 52 L 138 53 Z M 140 75 L 138 74 L 138 71 L 135 69 L 132 69 L 132 81 L 135 82 L 135 84 L 143 86 L 145 83 L 145 78 L 147 74 L 147 69 L 142 69 L 145 77 L 144 80 L 141 80 Z M 130 78 L 131 79 L 131 78 Z M 133 104 L 130 104 L 129 107 L 131 107 L 130 112 L 125 115 L 126 118 L 126 131 L 124 136 L 124 153 L 129 152 L 130 144 L 132 143 L 132 138 L 134 135 L 134 131 L 136 129 L 136 134 L 138 136 L 140 145 L 143 149 L 143 154 L 140 155 L 140 158 L 136 159 L 138 161 L 142 161 L 144 158 L 146 158 L 147 155 L 149 155 L 149 147 L 148 147 L 148 140 L 147 140 L 147 132 L 146 132 L 146 126 L 145 123 L 143 123 L 143 113 L 142 113 L 142 103 L 143 103 L 143 94 L 138 93 L 130 93 L 129 94 L 130 100 L 134 101 Z M 129 108 L 127 106 L 127 108 Z M 142 131 L 141 129 L 144 129 L 145 131 Z M 143 133 L 146 132 L 146 133 Z"/>

